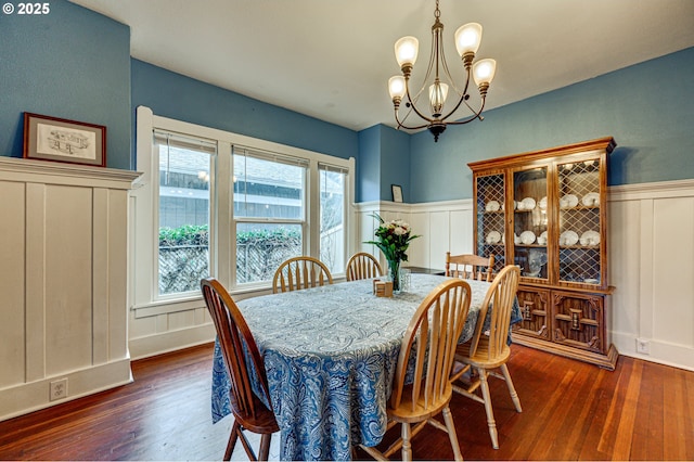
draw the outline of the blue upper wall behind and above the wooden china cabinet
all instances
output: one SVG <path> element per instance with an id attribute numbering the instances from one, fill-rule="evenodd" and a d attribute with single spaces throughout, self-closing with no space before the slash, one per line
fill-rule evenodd
<path id="1" fill-rule="evenodd" d="M 694 178 L 694 48 L 411 137 L 412 203 L 472 197 L 467 163 L 612 136 L 608 183 Z M 493 91 L 493 88 L 491 89 Z"/>

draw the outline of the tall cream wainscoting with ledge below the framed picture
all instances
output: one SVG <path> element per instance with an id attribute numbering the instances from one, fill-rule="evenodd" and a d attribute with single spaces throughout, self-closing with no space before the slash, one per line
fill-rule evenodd
<path id="1" fill-rule="evenodd" d="M 0 157 L 0 420 L 132 381 L 128 195 L 139 176 Z"/>

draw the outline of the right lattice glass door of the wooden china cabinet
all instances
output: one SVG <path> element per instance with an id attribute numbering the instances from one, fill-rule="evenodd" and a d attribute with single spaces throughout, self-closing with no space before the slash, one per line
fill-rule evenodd
<path id="1" fill-rule="evenodd" d="M 560 281 L 601 285 L 600 161 L 557 165 Z"/>

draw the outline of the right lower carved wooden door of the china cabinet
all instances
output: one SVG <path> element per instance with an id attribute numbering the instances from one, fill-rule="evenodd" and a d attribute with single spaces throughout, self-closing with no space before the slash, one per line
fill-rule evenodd
<path id="1" fill-rule="evenodd" d="M 554 342 L 599 354 L 605 345 L 605 297 L 600 294 L 552 292 Z"/>

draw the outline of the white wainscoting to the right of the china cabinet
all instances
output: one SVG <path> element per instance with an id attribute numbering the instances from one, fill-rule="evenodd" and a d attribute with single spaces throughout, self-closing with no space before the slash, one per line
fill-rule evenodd
<path id="1" fill-rule="evenodd" d="M 608 201 L 615 346 L 694 370 L 694 181 L 611 188 Z"/>

